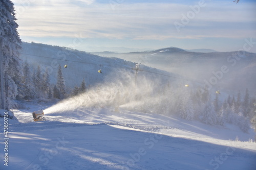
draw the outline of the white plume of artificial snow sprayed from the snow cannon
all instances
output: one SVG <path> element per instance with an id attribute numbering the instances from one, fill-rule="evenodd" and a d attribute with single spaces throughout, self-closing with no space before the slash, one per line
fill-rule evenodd
<path id="1" fill-rule="evenodd" d="M 105 78 L 89 91 L 61 101 L 46 109 L 46 114 L 74 111 L 78 108 L 120 106 L 127 110 L 168 112 L 175 100 L 174 90 L 168 83 L 144 72 L 135 75 L 119 70 Z M 174 105 L 174 104 L 173 104 Z M 164 108 L 164 109 L 163 109 Z"/>

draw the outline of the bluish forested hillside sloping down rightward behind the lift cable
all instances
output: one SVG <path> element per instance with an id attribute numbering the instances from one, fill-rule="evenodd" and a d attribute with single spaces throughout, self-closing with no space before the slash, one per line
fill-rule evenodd
<path id="1" fill-rule="evenodd" d="M 136 63 L 134 62 L 115 57 L 100 57 L 67 47 L 23 42 L 23 50 L 20 53 L 20 58 L 29 63 L 31 71 L 36 70 L 38 65 L 41 67 L 42 74 L 47 69 L 50 75 L 50 83 L 52 84 L 56 83 L 59 64 L 63 66 L 62 72 L 68 88 L 79 86 L 83 79 L 85 79 L 89 87 L 112 79 L 112 74 L 122 74 L 121 72 L 125 71 L 135 74 L 133 68 L 136 67 Z M 66 64 L 68 67 L 64 68 Z M 99 74 L 99 69 L 102 70 L 103 74 Z M 156 76 L 152 72 L 174 76 L 174 74 L 170 74 L 167 71 L 150 68 L 145 65 L 140 65 L 140 69 L 145 70 L 143 72 L 144 75 L 150 75 L 151 77 Z"/>

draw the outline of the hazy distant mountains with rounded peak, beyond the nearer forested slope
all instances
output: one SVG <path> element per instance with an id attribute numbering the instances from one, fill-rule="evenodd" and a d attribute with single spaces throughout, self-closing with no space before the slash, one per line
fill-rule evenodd
<path id="1" fill-rule="evenodd" d="M 177 47 L 149 52 L 98 54 L 142 63 L 227 91 L 249 88 L 256 92 L 256 54 L 248 52 L 189 52 Z M 210 53 L 209 53 L 210 52 Z M 243 56 L 241 56 L 243 54 Z M 222 67 L 227 72 L 221 72 Z M 218 74 L 216 76 L 216 72 Z M 241 81 L 242 80 L 242 81 Z M 211 83 L 210 83 L 211 82 Z"/>

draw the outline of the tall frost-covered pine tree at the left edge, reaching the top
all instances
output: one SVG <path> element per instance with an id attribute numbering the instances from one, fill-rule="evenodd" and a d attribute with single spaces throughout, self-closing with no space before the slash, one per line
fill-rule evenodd
<path id="1" fill-rule="evenodd" d="M 18 56 L 19 50 L 22 48 L 22 41 L 18 36 L 17 28 L 13 3 L 10 0 L 0 0 L 0 57 L 3 73 L 3 82 L 1 83 L 5 87 L 3 91 L 6 103 L 4 109 L 6 110 L 9 110 L 14 105 L 13 100 L 17 95 L 15 78 L 20 77 L 21 72 Z M 3 97 L 1 96 L 1 98 Z"/>

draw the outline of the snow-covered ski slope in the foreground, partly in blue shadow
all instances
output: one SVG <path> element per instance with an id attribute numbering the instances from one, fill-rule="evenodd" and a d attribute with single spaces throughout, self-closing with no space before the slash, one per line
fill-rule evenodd
<path id="1" fill-rule="evenodd" d="M 0 169 L 255 169 L 255 133 L 120 108 L 48 112 L 26 104 L 9 119 L 8 166 Z M 45 122 L 32 111 L 45 110 Z M 4 129 L 1 118 L 1 129 Z M 4 134 L 0 134 L 1 139 Z M 236 137 L 239 141 L 235 141 Z"/>

